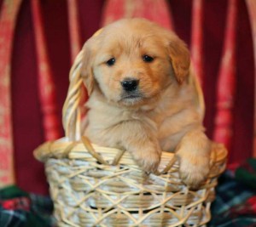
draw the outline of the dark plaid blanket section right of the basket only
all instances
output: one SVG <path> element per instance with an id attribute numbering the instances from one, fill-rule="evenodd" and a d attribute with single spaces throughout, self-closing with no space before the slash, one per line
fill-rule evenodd
<path id="1" fill-rule="evenodd" d="M 209 227 L 256 227 L 256 160 L 219 179 Z"/>

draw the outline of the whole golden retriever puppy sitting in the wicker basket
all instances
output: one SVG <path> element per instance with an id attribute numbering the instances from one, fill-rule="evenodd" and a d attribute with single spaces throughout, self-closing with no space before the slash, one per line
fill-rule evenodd
<path id="1" fill-rule="evenodd" d="M 161 150 L 176 150 L 183 182 L 209 172 L 210 141 L 189 84 L 189 50 L 174 33 L 143 19 L 102 28 L 84 44 L 82 77 L 90 94 L 86 135 L 131 152 L 155 172 Z"/>

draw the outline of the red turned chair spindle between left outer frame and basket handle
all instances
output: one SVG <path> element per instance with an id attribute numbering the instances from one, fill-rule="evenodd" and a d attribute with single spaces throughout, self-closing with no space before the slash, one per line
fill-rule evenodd
<path id="1" fill-rule="evenodd" d="M 53 140 L 61 137 L 59 120 L 56 114 L 55 84 L 49 66 L 39 1 L 31 1 L 31 8 L 38 57 L 38 90 L 43 113 L 44 138 Z"/>

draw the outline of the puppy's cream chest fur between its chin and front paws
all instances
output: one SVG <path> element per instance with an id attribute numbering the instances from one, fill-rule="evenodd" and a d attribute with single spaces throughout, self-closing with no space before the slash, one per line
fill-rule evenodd
<path id="1" fill-rule="evenodd" d="M 136 133 L 141 138 L 146 136 L 142 131 L 147 128 L 157 137 L 161 150 L 174 151 L 184 133 L 199 127 L 200 118 L 189 91 L 187 96 L 172 91 L 167 89 L 154 103 L 136 108 L 120 108 L 104 97 L 99 99 L 101 94 L 92 94 L 87 103 L 85 135 L 98 145 L 124 149 L 125 136 Z"/>

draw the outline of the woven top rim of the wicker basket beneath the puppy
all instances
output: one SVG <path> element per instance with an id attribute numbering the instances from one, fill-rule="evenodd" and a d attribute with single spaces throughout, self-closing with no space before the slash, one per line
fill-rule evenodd
<path id="1" fill-rule="evenodd" d="M 139 168 L 137 163 L 132 158 L 131 154 L 125 150 L 119 150 L 117 148 L 110 148 L 100 146 L 96 144 L 86 145 L 84 141 L 69 141 L 64 137 L 55 141 L 45 142 L 43 145 L 39 145 L 33 154 L 40 162 L 47 162 L 49 159 L 68 159 L 68 160 L 80 160 L 87 162 L 100 162 L 108 166 L 115 166 L 123 164 L 129 167 Z M 91 153 L 93 149 L 94 153 Z M 212 142 L 212 152 L 210 163 L 212 166 L 221 165 L 226 162 L 228 151 L 224 145 Z M 100 158 L 99 158 L 100 156 Z M 101 160 L 102 158 L 102 160 Z M 174 152 L 162 151 L 160 167 L 161 172 L 167 172 L 172 167 L 178 168 L 177 156 Z"/>

